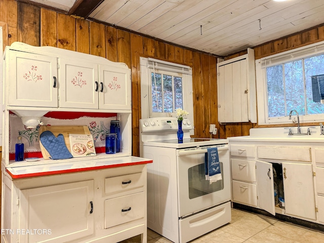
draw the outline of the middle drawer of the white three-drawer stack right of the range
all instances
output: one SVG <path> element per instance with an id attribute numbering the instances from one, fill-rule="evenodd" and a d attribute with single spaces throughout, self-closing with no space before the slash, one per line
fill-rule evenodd
<path id="1" fill-rule="evenodd" d="M 256 182 L 255 161 L 231 159 L 232 179 Z"/>

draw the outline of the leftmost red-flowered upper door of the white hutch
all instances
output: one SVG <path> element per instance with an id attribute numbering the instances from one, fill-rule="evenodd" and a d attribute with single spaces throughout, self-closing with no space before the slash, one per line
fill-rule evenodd
<path id="1" fill-rule="evenodd" d="M 57 58 L 9 50 L 6 77 L 11 106 L 57 107 Z"/>

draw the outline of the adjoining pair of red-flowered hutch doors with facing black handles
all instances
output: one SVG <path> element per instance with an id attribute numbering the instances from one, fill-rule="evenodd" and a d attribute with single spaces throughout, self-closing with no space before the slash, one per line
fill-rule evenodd
<path id="1" fill-rule="evenodd" d="M 131 109 L 130 70 L 60 59 L 62 108 Z"/>

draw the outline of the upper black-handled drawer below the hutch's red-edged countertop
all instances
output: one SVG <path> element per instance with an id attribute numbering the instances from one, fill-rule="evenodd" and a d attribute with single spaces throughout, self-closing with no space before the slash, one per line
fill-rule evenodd
<path id="1" fill-rule="evenodd" d="M 135 173 L 123 176 L 105 178 L 105 193 L 119 196 L 128 193 L 140 192 L 144 190 L 145 174 Z"/>

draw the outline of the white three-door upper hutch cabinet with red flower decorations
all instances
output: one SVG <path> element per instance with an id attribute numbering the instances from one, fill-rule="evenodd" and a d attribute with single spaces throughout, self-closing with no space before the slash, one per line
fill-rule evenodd
<path id="1" fill-rule="evenodd" d="M 9 106 L 131 110 L 131 71 L 125 63 L 14 43 L 6 49 L 5 68 Z"/>

